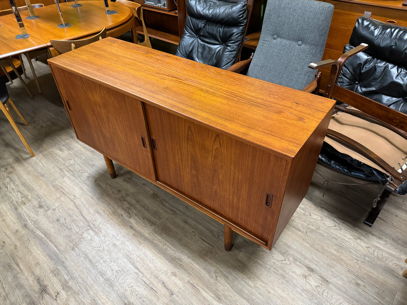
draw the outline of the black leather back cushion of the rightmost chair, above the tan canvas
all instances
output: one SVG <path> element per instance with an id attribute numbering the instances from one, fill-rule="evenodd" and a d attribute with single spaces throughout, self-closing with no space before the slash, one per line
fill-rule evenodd
<path id="1" fill-rule="evenodd" d="M 369 47 L 345 62 L 338 85 L 407 114 L 407 28 L 359 17 L 344 51 L 360 43 Z"/>

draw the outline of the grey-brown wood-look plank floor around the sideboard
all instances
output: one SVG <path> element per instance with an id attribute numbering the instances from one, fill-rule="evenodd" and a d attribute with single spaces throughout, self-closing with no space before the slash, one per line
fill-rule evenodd
<path id="1" fill-rule="evenodd" d="M 271 251 L 235 234 L 225 252 L 218 222 L 121 166 L 110 179 L 34 67 L 42 94 L 30 71 L 34 98 L 8 88 L 35 157 L 0 115 L 0 304 L 407 304 L 407 197 L 369 228 L 378 187 L 318 167 Z"/>

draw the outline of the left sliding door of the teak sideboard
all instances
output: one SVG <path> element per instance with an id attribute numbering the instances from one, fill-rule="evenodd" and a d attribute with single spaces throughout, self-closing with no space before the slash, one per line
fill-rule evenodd
<path id="1" fill-rule="evenodd" d="M 69 84 L 58 87 L 78 139 L 155 180 L 141 102 L 61 69 L 52 68 L 52 72 L 58 84 Z"/>

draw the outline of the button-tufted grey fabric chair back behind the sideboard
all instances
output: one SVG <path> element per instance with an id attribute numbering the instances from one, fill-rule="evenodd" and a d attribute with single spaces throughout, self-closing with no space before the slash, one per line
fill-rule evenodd
<path id="1" fill-rule="evenodd" d="M 248 76 L 301 90 L 314 78 L 333 5 L 315 0 L 268 0 L 259 44 Z"/>

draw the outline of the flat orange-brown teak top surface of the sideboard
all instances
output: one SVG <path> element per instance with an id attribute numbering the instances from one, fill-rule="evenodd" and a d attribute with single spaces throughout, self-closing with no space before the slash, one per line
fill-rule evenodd
<path id="1" fill-rule="evenodd" d="M 286 157 L 297 154 L 334 105 L 324 97 L 109 37 L 48 62 Z"/>

